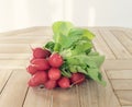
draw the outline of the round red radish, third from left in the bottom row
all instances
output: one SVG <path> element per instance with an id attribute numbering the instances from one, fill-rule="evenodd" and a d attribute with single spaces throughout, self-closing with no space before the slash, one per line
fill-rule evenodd
<path id="1" fill-rule="evenodd" d="M 70 87 L 70 81 L 69 81 L 68 78 L 63 76 L 63 78 L 58 81 L 58 85 L 59 85 L 62 88 L 68 88 L 68 87 Z"/>

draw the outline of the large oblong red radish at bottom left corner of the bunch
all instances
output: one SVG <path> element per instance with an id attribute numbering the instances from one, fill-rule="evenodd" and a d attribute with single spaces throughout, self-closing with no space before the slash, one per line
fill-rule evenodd
<path id="1" fill-rule="evenodd" d="M 44 84 L 47 81 L 47 73 L 45 71 L 43 72 L 36 72 L 29 81 L 30 86 L 38 86 L 41 84 Z"/>

